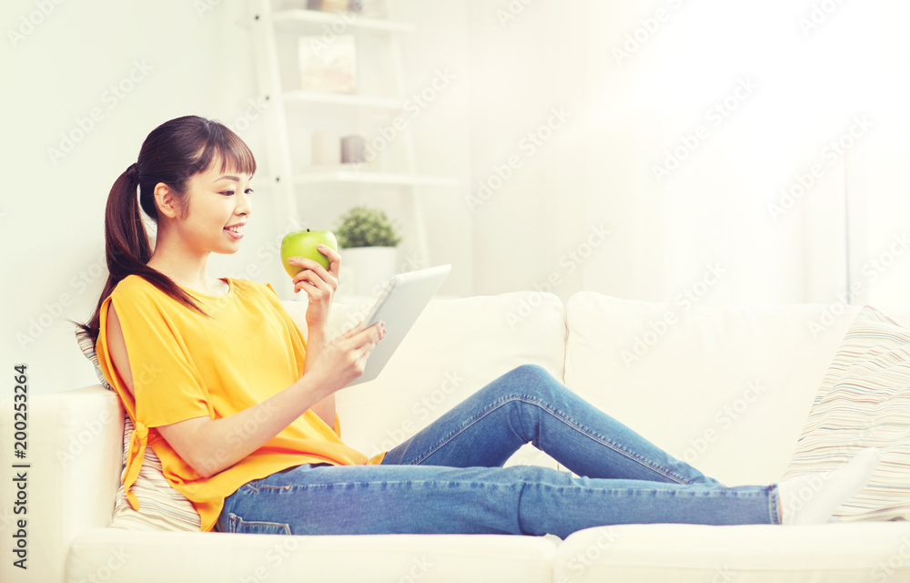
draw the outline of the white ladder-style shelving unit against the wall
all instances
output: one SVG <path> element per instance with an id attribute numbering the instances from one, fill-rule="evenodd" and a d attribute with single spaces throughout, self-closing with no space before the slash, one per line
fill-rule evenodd
<path id="1" fill-rule="evenodd" d="M 310 135 L 313 127 L 288 126 L 288 112 L 298 110 L 324 110 L 332 108 L 340 115 L 359 117 L 364 112 L 394 115 L 406 103 L 403 63 L 398 36 L 414 30 L 410 24 L 397 22 L 392 15 L 392 0 L 385 0 L 386 16 L 369 17 L 356 13 L 329 13 L 301 8 L 273 10 L 272 0 L 249 0 L 249 23 L 256 59 L 259 91 L 269 107 L 263 113 L 267 131 L 267 154 L 270 176 L 267 180 L 275 188 L 278 228 L 287 225 L 288 218 L 299 218 L 298 196 L 305 196 L 316 185 L 373 185 L 396 187 L 410 196 L 410 221 L 416 233 L 419 261 L 430 265 L 427 231 L 421 208 L 421 197 L 428 189 L 456 186 L 457 180 L 446 177 L 423 176 L 417 172 L 414 143 L 409 127 L 400 131 L 403 163 L 395 169 L 375 169 L 360 165 L 309 166 L 306 160 L 292 152 L 289 139 L 294 135 Z M 320 35 L 326 30 L 342 29 L 342 34 L 371 36 L 384 46 L 391 70 L 382 73 L 393 78 L 393 96 L 316 93 L 288 90 L 282 83 L 279 40 L 283 35 Z M 284 37 L 287 38 L 287 37 Z M 358 63 L 358 67 L 360 64 Z M 369 141 L 371 136 L 364 135 Z M 344 195 L 342 195 L 344 196 Z"/>

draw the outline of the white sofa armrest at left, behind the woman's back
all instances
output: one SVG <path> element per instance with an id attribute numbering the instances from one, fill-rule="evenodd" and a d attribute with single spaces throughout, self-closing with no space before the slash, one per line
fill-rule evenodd
<path id="1" fill-rule="evenodd" d="M 6 549 L 15 546 L 18 521 L 25 519 L 27 569 L 15 567 L 18 557 L 6 550 L 0 580 L 62 581 L 73 538 L 88 528 L 110 525 L 120 485 L 123 406 L 100 384 L 29 395 L 25 459 L 14 457 L 9 439 L 15 431 L 13 410 L 12 399 L 0 403 L 0 535 Z M 13 478 L 20 472 L 25 472 L 26 499 L 16 513 Z"/>

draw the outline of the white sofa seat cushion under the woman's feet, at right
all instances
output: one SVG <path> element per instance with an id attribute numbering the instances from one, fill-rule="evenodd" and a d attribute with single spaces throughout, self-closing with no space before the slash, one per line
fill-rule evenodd
<path id="1" fill-rule="evenodd" d="M 910 524 L 622 525 L 567 537 L 554 581 L 870 583 L 910 580 Z"/>

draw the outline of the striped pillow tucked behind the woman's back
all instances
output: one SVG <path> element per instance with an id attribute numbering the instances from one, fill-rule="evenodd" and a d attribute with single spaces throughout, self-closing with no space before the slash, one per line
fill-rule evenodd
<path id="1" fill-rule="evenodd" d="M 108 390 L 114 387 L 107 383 L 98 356 L 95 353 L 95 344 L 91 337 L 76 328 L 76 341 L 86 358 L 95 364 L 95 373 L 98 381 Z M 123 424 L 123 455 L 120 457 L 120 487 L 116 491 L 114 514 L 111 517 L 111 527 L 126 528 L 128 530 L 190 530 L 198 532 L 202 521 L 193 503 L 167 483 L 167 478 L 161 470 L 161 460 L 155 455 L 151 447 L 146 447 L 146 455 L 139 468 L 139 475 L 131 490 L 139 500 L 139 509 L 133 510 L 126 499 L 126 488 L 123 485 L 126 472 L 126 455 L 129 453 L 129 442 L 133 435 L 133 420 L 124 412 Z"/>

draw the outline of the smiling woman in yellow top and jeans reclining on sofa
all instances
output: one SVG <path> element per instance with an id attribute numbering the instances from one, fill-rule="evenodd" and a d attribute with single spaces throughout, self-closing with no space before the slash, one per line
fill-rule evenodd
<path id="1" fill-rule="evenodd" d="M 340 439 L 334 393 L 363 372 L 382 323 L 327 342 L 341 258 L 304 269 L 308 341 L 268 284 L 207 274 L 252 213 L 252 152 L 223 125 L 172 119 L 111 189 L 110 277 L 86 332 L 136 425 L 125 483 L 151 446 L 201 530 L 567 537 L 625 523 L 814 524 L 865 485 L 878 451 L 831 475 L 726 487 L 525 365 L 373 458 Z M 139 188 L 138 200 L 136 187 Z M 151 251 L 139 212 L 157 223 Z M 501 465 L 531 442 L 581 477 Z"/>

